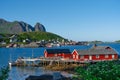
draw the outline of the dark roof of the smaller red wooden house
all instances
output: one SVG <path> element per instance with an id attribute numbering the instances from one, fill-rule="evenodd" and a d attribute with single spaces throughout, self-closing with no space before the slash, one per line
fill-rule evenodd
<path id="1" fill-rule="evenodd" d="M 71 54 L 69 49 L 46 49 L 48 54 L 59 54 L 59 53 L 67 53 Z"/>

